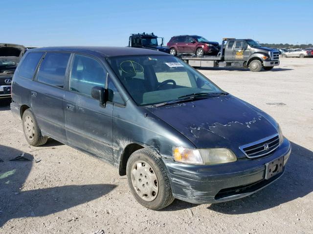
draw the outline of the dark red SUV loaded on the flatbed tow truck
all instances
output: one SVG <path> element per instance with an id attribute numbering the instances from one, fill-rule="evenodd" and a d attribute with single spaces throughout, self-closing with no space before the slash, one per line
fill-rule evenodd
<path id="1" fill-rule="evenodd" d="M 208 41 L 197 35 L 181 35 L 174 36 L 167 43 L 167 47 L 170 48 L 171 55 L 177 54 L 191 54 L 197 56 L 203 56 L 205 54 L 217 55 L 220 46 L 216 41 Z"/>

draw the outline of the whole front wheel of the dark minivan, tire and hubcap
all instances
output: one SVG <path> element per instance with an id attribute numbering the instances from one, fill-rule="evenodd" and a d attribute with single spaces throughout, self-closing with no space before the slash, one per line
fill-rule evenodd
<path id="1" fill-rule="evenodd" d="M 126 175 L 132 194 L 144 207 L 160 210 L 174 201 L 164 164 L 149 150 L 140 149 L 130 156 Z"/>

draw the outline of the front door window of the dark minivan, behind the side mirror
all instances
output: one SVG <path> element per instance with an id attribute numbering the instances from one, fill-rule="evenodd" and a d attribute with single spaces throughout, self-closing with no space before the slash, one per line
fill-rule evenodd
<path id="1" fill-rule="evenodd" d="M 107 72 L 96 60 L 84 55 L 75 55 L 69 79 L 69 89 L 91 97 L 95 86 L 105 87 Z"/>

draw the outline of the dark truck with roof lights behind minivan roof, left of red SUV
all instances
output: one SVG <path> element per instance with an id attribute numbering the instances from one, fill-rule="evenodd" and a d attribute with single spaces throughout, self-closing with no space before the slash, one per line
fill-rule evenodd
<path id="1" fill-rule="evenodd" d="M 161 43 L 159 44 L 159 40 Z M 150 50 L 158 50 L 165 53 L 170 53 L 170 49 L 166 46 L 163 46 L 164 38 L 159 38 L 153 33 L 137 33 L 131 34 L 129 37 L 128 46 L 129 47 L 136 47 L 136 48 L 144 48 Z"/>

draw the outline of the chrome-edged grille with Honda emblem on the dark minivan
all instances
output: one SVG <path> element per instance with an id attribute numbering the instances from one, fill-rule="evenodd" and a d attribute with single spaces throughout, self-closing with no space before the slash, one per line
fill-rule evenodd
<path id="1" fill-rule="evenodd" d="M 242 152 L 248 158 L 261 157 L 274 151 L 279 146 L 279 136 L 275 134 L 253 143 L 240 146 Z"/>

